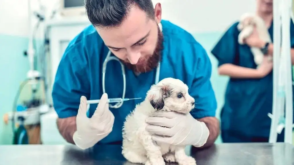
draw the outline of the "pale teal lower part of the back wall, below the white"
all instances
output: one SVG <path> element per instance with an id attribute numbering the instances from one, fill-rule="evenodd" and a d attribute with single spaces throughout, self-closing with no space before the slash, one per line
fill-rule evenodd
<path id="1" fill-rule="evenodd" d="M 221 33 L 202 33 L 195 34 L 195 38 L 207 50 L 211 58 L 213 66 L 211 82 L 215 90 L 218 101 L 218 112 L 223 104 L 223 95 L 227 78 L 217 75 L 217 61 L 211 56 L 210 50 L 214 43 L 218 40 Z M 29 70 L 29 62 L 27 57 L 23 55 L 24 50 L 27 49 L 28 38 L 7 36 L 0 34 L 0 119 L 9 111 L 12 111 L 12 104 L 16 92 L 21 82 L 26 78 L 26 73 Z M 25 92 L 22 93 L 26 95 Z M 5 125 L 0 121 L 0 144 L 12 143 L 11 124 Z M 218 139 L 218 142 L 220 140 Z"/>

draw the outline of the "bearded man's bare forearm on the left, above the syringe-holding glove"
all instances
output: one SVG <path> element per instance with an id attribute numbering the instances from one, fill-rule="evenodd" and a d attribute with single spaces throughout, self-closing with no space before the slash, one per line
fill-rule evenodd
<path id="1" fill-rule="evenodd" d="M 58 118 L 57 127 L 61 136 L 69 143 L 75 144 L 73 140 L 76 132 L 76 117 Z"/>

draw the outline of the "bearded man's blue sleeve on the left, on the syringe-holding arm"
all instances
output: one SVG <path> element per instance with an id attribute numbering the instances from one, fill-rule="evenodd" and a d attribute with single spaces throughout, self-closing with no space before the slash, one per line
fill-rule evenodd
<path id="1" fill-rule="evenodd" d="M 76 116 L 81 96 L 89 98 L 87 60 L 82 50 L 78 46 L 68 47 L 59 63 L 52 89 L 53 106 L 59 118 Z"/>

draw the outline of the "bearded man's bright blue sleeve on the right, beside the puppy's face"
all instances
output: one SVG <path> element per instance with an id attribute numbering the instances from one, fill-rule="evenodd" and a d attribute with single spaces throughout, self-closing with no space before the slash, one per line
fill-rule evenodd
<path id="1" fill-rule="evenodd" d="M 216 115 L 216 96 L 211 85 L 211 61 L 206 50 L 196 44 L 194 49 L 196 55 L 194 78 L 189 93 L 195 99 L 195 109 L 191 111 L 191 115 L 200 119 L 203 117 L 215 117 Z"/>

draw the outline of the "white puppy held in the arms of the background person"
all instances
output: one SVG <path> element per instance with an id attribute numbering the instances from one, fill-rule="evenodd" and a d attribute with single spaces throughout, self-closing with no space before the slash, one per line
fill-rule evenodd
<path id="1" fill-rule="evenodd" d="M 270 34 L 268 33 L 268 28 L 265 26 L 263 19 L 254 14 L 245 13 L 241 16 L 240 22 L 237 26 L 238 30 L 240 31 L 238 36 L 239 44 L 244 44 L 244 39 L 252 34 L 254 27 L 256 27 L 256 31 L 258 32 L 259 38 L 261 40 L 272 43 Z M 250 50 L 254 56 L 255 64 L 260 65 L 264 56 L 260 48 L 251 47 Z M 270 56 L 268 57 L 268 60 L 272 60 Z"/>

